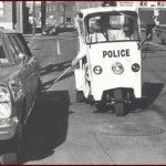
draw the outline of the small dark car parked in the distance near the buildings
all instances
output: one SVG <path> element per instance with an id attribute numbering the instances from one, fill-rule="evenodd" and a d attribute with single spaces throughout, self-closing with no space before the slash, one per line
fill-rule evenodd
<path id="1" fill-rule="evenodd" d="M 48 34 L 58 34 L 58 29 L 59 27 L 53 25 L 53 24 L 45 24 L 42 29 L 42 34 L 48 35 Z"/>

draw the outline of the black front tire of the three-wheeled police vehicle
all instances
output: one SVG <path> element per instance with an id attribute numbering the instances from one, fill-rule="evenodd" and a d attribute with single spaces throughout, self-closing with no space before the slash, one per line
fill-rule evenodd
<path id="1" fill-rule="evenodd" d="M 117 89 L 114 91 L 114 98 L 123 98 L 123 94 L 122 94 L 122 90 Z M 115 114 L 116 116 L 124 116 L 125 115 L 125 108 L 124 108 L 124 103 L 120 102 L 120 103 L 115 103 L 114 104 L 114 110 L 115 110 Z"/>

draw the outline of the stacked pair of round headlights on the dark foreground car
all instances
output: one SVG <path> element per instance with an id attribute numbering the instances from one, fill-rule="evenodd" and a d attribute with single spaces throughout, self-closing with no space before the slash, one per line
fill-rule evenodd
<path id="1" fill-rule="evenodd" d="M 11 115 L 10 93 L 6 86 L 0 86 L 0 118 L 8 118 Z"/>

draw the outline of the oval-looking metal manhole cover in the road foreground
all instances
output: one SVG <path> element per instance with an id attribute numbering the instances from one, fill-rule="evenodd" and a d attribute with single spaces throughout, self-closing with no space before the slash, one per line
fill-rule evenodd
<path id="1" fill-rule="evenodd" d="M 98 132 L 114 136 L 149 136 L 157 135 L 164 129 L 146 125 L 104 125 L 98 128 Z"/>

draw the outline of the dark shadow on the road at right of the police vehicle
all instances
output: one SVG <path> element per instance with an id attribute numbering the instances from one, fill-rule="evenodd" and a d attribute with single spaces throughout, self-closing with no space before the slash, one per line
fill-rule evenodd
<path id="1" fill-rule="evenodd" d="M 143 83 L 143 100 L 135 101 L 132 105 L 129 105 L 129 112 L 144 112 L 147 107 L 151 106 L 151 104 L 154 103 L 154 101 L 158 97 L 162 90 L 164 89 L 164 83 L 149 83 L 144 82 Z M 136 111 L 136 108 L 141 108 L 139 111 Z"/>

